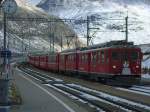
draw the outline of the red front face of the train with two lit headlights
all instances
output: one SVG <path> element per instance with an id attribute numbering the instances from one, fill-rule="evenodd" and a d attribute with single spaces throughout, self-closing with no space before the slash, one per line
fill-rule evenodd
<path id="1" fill-rule="evenodd" d="M 140 48 L 112 48 L 110 72 L 115 75 L 141 75 L 142 52 Z"/>

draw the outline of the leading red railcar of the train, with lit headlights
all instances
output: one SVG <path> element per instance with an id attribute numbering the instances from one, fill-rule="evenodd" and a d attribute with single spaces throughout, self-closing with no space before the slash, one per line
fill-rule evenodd
<path id="1" fill-rule="evenodd" d="M 98 48 L 80 51 L 78 55 L 78 72 L 86 77 L 105 82 L 121 80 L 126 84 L 140 80 L 142 53 L 139 48 Z"/>

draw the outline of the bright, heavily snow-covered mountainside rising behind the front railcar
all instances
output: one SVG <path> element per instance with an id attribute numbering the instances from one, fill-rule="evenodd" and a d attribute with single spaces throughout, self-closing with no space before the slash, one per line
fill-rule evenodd
<path id="1" fill-rule="evenodd" d="M 99 28 L 90 33 L 94 44 L 125 39 L 123 31 L 128 15 L 129 41 L 145 44 L 150 43 L 149 4 L 149 0 L 41 0 L 37 6 L 60 18 L 86 19 L 90 16 L 90 27 Z M 70 26 L 79 37 L 86 37 L 86 23 L 76 21 Z"/>

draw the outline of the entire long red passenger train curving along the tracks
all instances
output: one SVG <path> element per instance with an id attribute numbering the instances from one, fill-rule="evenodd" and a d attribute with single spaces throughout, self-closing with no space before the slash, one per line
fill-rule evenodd
<path id="1" fill-rule="evenodd" d="M 141 49 L 134 46 L 133 42 L 125 41 L 111 41 L 60 53 L 29 56 L 29 63 L 38 68 L 69 72 L 115 85 L 139 83 L 141 60 Z"/>

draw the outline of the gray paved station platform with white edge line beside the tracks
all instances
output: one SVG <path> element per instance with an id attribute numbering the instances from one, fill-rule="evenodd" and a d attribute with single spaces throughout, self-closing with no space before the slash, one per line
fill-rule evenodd
<path id="1" fill-rule="evenodd" d="M 13 77 L 21 92 L 23 104 L 13 107 L 11 112 L 73 112 L 49 95 L 47 92 L 51 91 L 44 88 L 39 81 L 23 75 L 18 70 L 14 72 Z"/>

